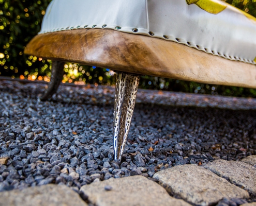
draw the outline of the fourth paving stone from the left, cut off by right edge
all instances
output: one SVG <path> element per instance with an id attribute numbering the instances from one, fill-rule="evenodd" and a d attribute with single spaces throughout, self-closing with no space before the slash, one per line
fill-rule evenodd
<path id="1" fill-rule="evenodd" d="M 256 195 L 256 168 L 240 161 L 216 160 L 205 165 L 216 175 Z"/>

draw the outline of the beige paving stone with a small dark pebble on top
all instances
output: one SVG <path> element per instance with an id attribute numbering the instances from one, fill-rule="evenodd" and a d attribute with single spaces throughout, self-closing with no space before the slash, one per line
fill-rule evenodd
<path id="1" fill-rule="evenodd" d="M 169 196 L 163 187 L 142 176 L 93 182 L 82 186 L 80 194 L 97 206 L 190 205 L 183 200 Z"/>

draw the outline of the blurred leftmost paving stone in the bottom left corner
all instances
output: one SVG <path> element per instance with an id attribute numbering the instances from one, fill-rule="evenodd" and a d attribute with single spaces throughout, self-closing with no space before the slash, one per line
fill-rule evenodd
<path id="1" fill-rule="evenodd" d="M 65 185 L 43 185 L 0 193 L 0 206 L 86 206 L 80 196 Z"/>

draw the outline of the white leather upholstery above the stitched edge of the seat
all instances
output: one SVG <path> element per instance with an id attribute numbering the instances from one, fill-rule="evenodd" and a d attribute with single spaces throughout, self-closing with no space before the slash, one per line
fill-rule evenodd
<path id="1" fill-rule="evenodd" d="M 193 0 L 53 0 L 40 33 L 84 27 L 154 33 L 151 37 L 255 64 L 256 21 L 220 0 L 200 1 L 220 4 L 223 9 L 213 14 L 199 4 L 188 5 Z"/>

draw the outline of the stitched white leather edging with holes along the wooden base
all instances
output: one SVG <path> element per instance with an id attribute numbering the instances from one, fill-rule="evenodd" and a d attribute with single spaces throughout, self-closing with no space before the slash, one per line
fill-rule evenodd
<path id="1" fill-rule="evenodd" d="M 219 56 L 219 57 L 222 57 L 222 58 L 225 58 L 225 59 L 229 59 L 229 60 L 233 60 L 233 61 L 240 61 L 240 62 L 256 65 L 256 62 L 254 62 L 254 60 L 225 55 L 225 54 L 219 53 L 217 51 L 211 50 L 209 48 L 204 48 L 203 46 L 196 45 L 193 42 L 187 42 L 184 39 L 175 38 L 173 36 L 159 35 L 158 33 L 153 33 L 152 31 L 140 32 L 140 30 L 141 30 L 140 28 L 136 28 L 136 29 L 138 29 L 138 31 L 134 32 L 133 31 L 134 28 L 132 28 L 132 27 L 124 27 L 126 29 L 130 28 L 130 31 L 126 31 L 126 30 L 122 29 L 122 27 L 119 28 L 119 26 L 108 27 L 108 25 L 106 26 L 106 24 L 104 24 L 103 26 L 104 27 L 102 28 L 102 25 L 98 26 L 98 25 L 95 25 L 95 24 L 92 24 L 92 26 L 88 26 L 88 25 L 80 26 L 80 25 L 77 25 L 77 26 L 72 26 L 72 27 L 67 27 L 67 28 L 51 29 L 50 31 L 40 31 L 38 33 L 38 35 L 41 35 L 43 33 L 56 32 L 56 31 L 74 30 L 74 29 L 85 29 L 85 28 L 86 29 L 88 29 L 88 28 L 91 28 L 91 29 L 99 29 L 99 28 L 100 29 L 113 29 L 113 30 L 116 30 L 116 31 L 122 31 L 122 32 L 126 32 L 126 33 L 134 33 L 134 34 L 138 34 L 138 35 L 145 35 L 145 36 L 148 36 L 148 37 L 154 37 L 154 38 L 159 38 L 159 39 L 163 39 L 163 40 L 173 41 L 173 42 L 184 44 L 186 46 L 189 46 L 189 47 L 201 50 L 202 52 L 205 52 L 205 53 L 208 53 L 208 54 L 212 54 L 212 55 L 215 55 L 215 56 Z M 143 30 L 146 30 L 146 29 L 143 29 Z M 153 33 L 153 35 L 152 35 L 152 33 Z"/>

